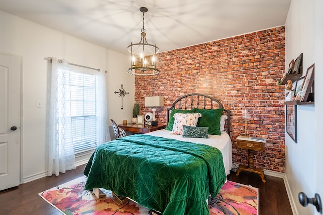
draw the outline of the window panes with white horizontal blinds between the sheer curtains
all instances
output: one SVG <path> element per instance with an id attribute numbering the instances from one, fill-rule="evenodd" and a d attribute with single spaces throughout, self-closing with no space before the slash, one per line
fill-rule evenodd
<path id="1" fill-rule="evenodd" d="M 75 154 L 96 147 L 96 78 L 71 71 L 71 129 Z"/>

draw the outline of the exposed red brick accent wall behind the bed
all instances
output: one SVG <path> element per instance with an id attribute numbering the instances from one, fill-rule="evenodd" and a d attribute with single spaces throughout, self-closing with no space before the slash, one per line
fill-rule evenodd
<path id="1" fill-rule="evenodd" d="M 157 76 L 135 77 L 135 99 L 140 112 L 145 96 L 164 96 L 157 108 L 159 124 L 166 124 L 166 109 L 188 93 L 202 93 L 220 100 L 231 110 L 233 163 L 247 164 L 247 151 L 237 149 L 244 133 L 243 105 L 251 114 L 248 133 L 267 139 L 265 152 L 255 152 L 256 167 L 284 172 L 284 88 L 276 81 L 284 74 L 284 26 L 160 53 Z"/>

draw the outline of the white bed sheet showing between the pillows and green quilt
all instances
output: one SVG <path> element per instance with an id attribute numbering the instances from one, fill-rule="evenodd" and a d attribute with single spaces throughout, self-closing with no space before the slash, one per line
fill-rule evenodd
<path id="1" fill-rule="evenodd" d="M 186 142 L 195 142 L 197 144 L 206 144 L 212 147 L 218 148 L 223 157 L 223 164 L 226 171 L 226 175 L 230 174 L 231 165 L 232 165 L 232 142 L 230 136 L 227 133 L 222 133 L 219 135 L 208 135 L 208 139 L 203 138 L 187 138 L 182 137 L 182 135 L 170 134 L 169 130 L 156 130 L 146 135 L 159 136 L 168 139 L 177 139 L 180 141 Z"/>

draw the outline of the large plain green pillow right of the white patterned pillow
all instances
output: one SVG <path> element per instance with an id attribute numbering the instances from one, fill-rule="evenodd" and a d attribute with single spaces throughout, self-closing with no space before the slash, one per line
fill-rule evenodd
<path id="1" fill-rule="evenodd" d="M 208 134 L 221 135 L 220 118 L 223 108 L 219 109 L 195 109 L 195 113 L 201 113 L 202 117 L 197 122 L 197 127 L 208 127 Z"/>

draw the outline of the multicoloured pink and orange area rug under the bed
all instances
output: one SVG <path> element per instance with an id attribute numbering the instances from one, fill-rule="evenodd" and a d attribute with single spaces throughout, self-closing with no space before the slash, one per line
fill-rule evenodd
<path id="1" fill-rule="evenodd" d="M 105 196 L 97 199 L 92 192 L 84 190 L 85 183 L 86 176 L 82 176 L 38 195 L 68 215 L 150 214 L 149 209 L 131 200 L 117 205 L 112 200 L 112 192 L 102 188 Z M 258 214 L 258 188 L 227 181 L 216 198 L 209 197 L 208 204 L 210 215 Z"/>

